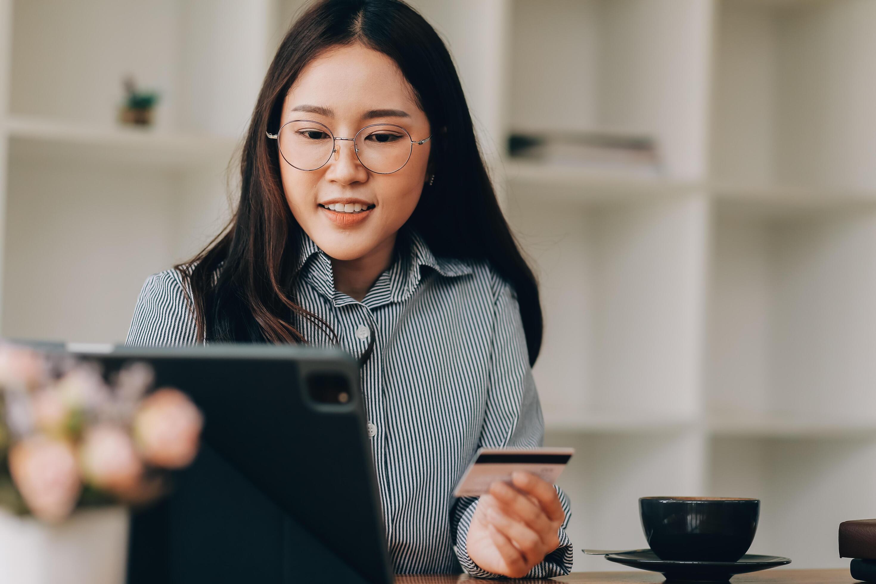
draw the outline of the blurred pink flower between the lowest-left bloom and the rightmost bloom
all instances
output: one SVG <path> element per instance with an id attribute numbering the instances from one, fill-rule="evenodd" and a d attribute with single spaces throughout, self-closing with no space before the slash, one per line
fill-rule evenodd
<path id="1" fill-rule="evenodd" d="M 116 493 L 137 489 L 144 470 L 131 437 L 112 424 L 99 424 L 85 431 L 79 447 L 79 466 L 88 484 Z"/>

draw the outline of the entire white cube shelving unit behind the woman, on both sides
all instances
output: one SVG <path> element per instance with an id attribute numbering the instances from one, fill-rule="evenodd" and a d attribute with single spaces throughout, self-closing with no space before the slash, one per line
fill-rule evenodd
<path id="1" fill-rule="evenodd" d="M 2 333 L 124 338 L 227 216 L 225 170 L 297 0 L 0 0 Z M 413 0 L 454 54 L 541 282 L 548 444 L 583 547 L 638 497 L 757 496 L 752 552 L 846 566 L 876 517 L 876 2 Z M 156 127 L 113 122 L 121 79 Z M 512 130 L 653 135 L 665 173 L 505 157 Z"/>

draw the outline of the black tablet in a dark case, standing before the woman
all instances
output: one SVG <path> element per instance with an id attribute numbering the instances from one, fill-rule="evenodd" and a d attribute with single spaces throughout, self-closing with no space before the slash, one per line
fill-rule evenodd
<path id="1" fill-rule="evenodd" d="M 201 451 L 172 494 L 132 515 L 129 582 L 392 582 L 350 355 L 233 343 L 65 349 L 106 375 L 149 362 L 156 387 L 185 391 L 204 413 Z"/>

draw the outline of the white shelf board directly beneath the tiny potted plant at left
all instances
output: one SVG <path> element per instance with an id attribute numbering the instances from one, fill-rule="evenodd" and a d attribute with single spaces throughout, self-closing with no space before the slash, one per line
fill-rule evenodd
<path id="1" fill-rule="evenodd" d="M 13 156 L 74 158 L 167 168 L 226 165 L 236 140 L 151 128 L 89 126 L 35 116 L 10 116 Z"/>

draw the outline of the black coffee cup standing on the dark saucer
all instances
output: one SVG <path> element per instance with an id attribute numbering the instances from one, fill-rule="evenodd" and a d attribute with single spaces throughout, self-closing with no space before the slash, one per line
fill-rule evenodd
<path id="1" fill-rule="evenodd" d="M 660 559 L 735 562 L 752 545 L 759 499 L 643 496 L 642 529 Z"/>

